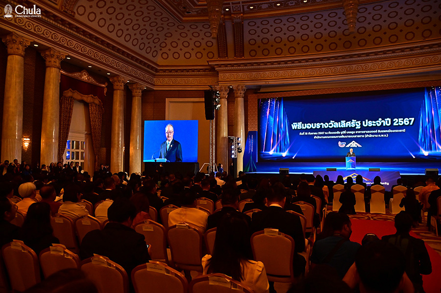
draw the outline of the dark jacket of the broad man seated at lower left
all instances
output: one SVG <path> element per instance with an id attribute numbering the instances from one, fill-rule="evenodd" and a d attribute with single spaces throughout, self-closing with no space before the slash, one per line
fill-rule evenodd
<path id="1" fill-rule="evenodd" d="M 108 223 L 102 230 L 93 230 L 81 242 L 80 258 L 104 255 L 121 265 L 130 275 L 138 265 L 150 260 L 144 235 L 120 223 Z"/>

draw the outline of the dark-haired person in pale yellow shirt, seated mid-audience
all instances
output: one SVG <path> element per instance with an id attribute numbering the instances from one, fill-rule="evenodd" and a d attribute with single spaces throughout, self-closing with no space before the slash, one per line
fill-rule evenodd
<path id="1" fill-rule="evenodd" d="M 185 223 L 194 226 L 202 234 L 207 228 L 208 214 L 196 208 L 196 194 L 191 189 L 184 189 L 180 195 L 181 207 L 169 214 L 169 227 Z"/>

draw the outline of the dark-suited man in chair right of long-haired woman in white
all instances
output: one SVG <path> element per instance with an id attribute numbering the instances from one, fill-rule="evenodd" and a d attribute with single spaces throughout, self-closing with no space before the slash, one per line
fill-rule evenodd
<path id="1" fill-rule="evenodd" d="M 293 237 L 295 243 L 294 251 L 296 252 L 294 253 L 293 269 L 294 275 L 298 276 L 305 272 L 306 260 L 298 254 L 305 249 L 305 239 L 300 218 L 283 210 L 285 201 L 286 197 L 284 194 L 275 193 L 271 189 L 268 190 L 267 204 L 269 207 L 266 210 L 253 214 L 251 229 L 253 232 L 257 232 L 265 228 L 274 228 Z"/>

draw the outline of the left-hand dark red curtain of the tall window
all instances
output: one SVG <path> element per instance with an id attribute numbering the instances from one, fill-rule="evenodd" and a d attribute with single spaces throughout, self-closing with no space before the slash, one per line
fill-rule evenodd
<path id="1" fill-rule="evenodd" d="M 71 128 L 73 97 L 63 96 L 60 99 L 60 130 L 58 138 L 58 161 L 63 162 L 64 151 Z"/>

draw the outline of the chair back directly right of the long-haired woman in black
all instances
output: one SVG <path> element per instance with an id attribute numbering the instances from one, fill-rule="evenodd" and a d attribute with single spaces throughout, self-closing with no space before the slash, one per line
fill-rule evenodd
<path id="1" fill-rule="evenodd" d="M 56 214 L 50 219 L 50 225 L 53 229 L 53 236 L 58 238 L 60 244 L 74 253 L 79 252 L 75 228 L 71 218 Z"/>

